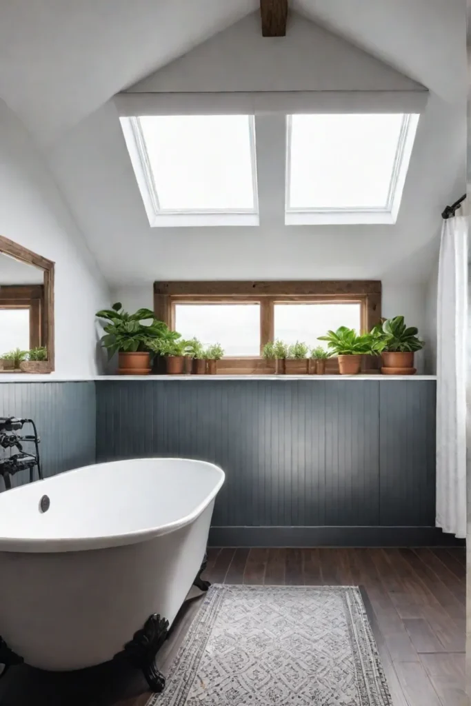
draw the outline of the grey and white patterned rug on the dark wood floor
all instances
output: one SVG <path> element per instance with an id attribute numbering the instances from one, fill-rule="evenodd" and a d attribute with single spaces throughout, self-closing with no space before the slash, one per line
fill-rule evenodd
<path id="1" fill-rule="evenodd" d="M 357 587 L 213 585 L 147 706 L 391 706 Z"/>

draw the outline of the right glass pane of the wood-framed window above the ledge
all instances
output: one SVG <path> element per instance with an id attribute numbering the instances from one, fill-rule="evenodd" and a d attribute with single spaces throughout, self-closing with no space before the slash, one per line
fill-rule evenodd
<path id="1" fill-rule="evenodd" d="M 311 347 L 327 348 L 318 336 L 339 326 L 359 333 L 360 304 L 275 304 L 275 338 L 286 343 L 304 341 Z"/>

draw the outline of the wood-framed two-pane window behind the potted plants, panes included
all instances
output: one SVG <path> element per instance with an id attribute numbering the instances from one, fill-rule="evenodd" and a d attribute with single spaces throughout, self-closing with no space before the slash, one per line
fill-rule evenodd
<path id="1" fill-rule="evenodd" d="M 330 328 L 347 325 L 366 333 L 381 320 L 381 282 L 155 282 L 155 316 L 185 338 L 219 342 L 222 374 L 269 374 L 263 346 L 280 338 L 310 347 Z M 364 358 L 364 370 L 376 369 Z M 338 372 L 330 359 L 328 373 Z"/>

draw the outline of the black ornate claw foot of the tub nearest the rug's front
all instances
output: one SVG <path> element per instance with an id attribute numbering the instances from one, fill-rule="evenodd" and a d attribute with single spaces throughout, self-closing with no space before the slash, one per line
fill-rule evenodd
<path id="1" fill-rule="evenodd" d="M 123 652 L 116 657 L 124 657 L 129 664 L 141 669 L 145 679 L 154 693 L 160 694 L 165 688 L 165 676 L 155 666 L 155 657 L 164 644 L 169 631 L 169 621 L 160 615 L 150 616 L 141 630 L 124 645 Z"/>

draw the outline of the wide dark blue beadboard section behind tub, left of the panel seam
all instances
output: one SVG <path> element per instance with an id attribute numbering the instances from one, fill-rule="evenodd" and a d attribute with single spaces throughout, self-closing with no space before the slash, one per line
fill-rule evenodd
<path id="1" fill-rule="evenodd" d="M 99 381 L 97 460 L 217 463 L 219 527 L 378 525 L 381 384 Z"/>

